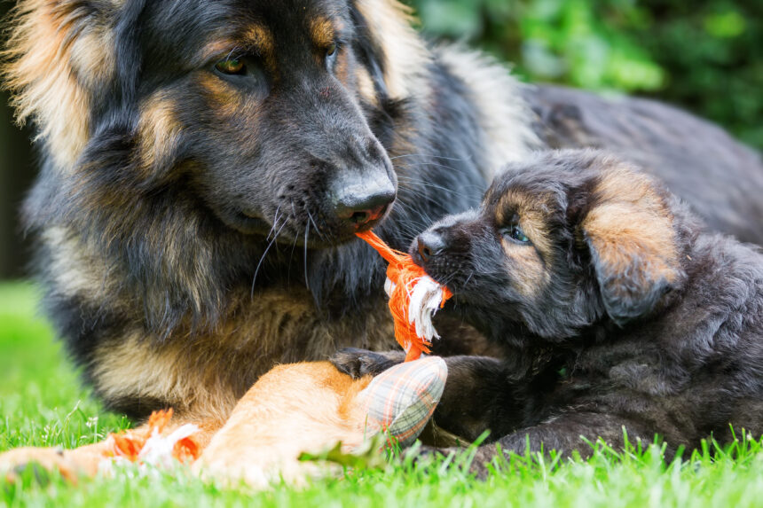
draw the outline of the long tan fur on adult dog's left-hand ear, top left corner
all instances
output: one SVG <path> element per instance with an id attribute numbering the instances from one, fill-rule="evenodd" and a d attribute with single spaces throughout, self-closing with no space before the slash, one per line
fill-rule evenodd
<path id="1" fill-rule="evenodd" d="M 110 28 L 101 20 L 77 18 L 70 9 L 71 4 L 48 0 L 21 2 L 3 52 L 17 121 L 35 121 L 38 138 L 62 170 L 74 165 L 90 132 L 90 93 L 76 76 L 98 86 L 114 71 Z"/>

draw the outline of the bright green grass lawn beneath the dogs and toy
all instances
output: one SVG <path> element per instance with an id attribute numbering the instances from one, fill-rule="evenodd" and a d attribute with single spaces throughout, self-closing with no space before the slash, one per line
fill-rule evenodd
<path id="1" fill-rule="evenodd" d="M 34 288 L 0 285 L 0 451 L 73 447 L 129 424 L 78 384 L 50 326 L 35 315 Z M 466 454 L 456 459 L 466 461 Z M 763 447 L 742 436 L 670 465 L 657 446 L 617 454 L 600 445 L 588 461 L 527 456 L 500 467 L 476 481 L 459 467 L 425 470 L 396 459 L 386 470 L 267 492 L 223 488 L 185 471 L 138 477 L 125 470 L 77 487 L 24 476 L 15 485 L 0 482 L 0 506 L 763 506 Z"/>

